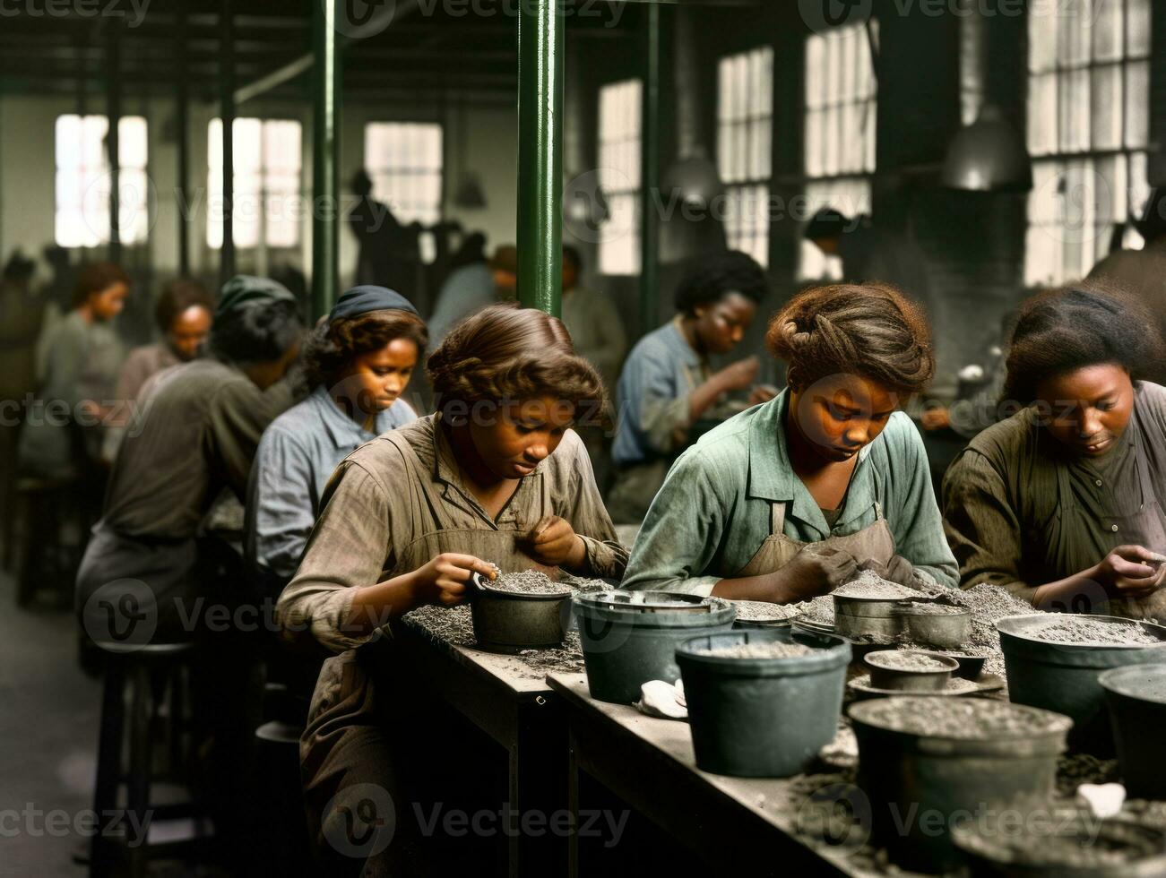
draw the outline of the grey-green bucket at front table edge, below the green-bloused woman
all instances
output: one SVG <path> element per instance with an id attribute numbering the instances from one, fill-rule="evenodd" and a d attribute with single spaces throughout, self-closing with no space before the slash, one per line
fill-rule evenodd
<path id="1" fill-rule="evenodd" d="M 738 644 L 803 644 L 810 655 L 735 659 L 701 655 Z M 696 765 L 739 778 L 788 778 L 814 760 L 838 729 L 850 644 L 805 631 L 733 631 L 676 649 Z"/>

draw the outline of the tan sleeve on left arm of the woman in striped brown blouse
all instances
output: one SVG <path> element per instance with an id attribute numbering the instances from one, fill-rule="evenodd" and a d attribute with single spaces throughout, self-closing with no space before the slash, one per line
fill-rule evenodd
<path id="1" fill-rule="evenodd" d="M 392 505 L 385 486 L 351 461 L 324 491 L 323 510 L 303 561 L 280 595 L 276 618 L 287 639 L 314 637 L 332 652 L 368 640 L 347 624 L 356 589 L 374 585 L 389 566 Z"/>

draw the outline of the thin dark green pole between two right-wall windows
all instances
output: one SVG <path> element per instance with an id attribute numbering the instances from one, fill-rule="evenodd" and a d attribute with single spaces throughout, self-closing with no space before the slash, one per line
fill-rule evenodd
<path id="1" fill-rule="evenodd" d="M 640 333 L 658 319 L 660 218 L 652 197 L 660 180 L 660 6 L 649 3 L 644 34 L 640 153 Z"/>

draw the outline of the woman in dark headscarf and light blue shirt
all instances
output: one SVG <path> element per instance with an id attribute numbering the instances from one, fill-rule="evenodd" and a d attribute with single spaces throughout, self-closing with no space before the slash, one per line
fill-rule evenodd
<path id="1" fill-rule="evenodd" d="M 373 286 L 340 296 L 308 339 L 316 389 L 264 433 L 247 489 L 247 560 L 265 581 L 282 589 L 295 574 L 337 464 L 416 420 L 402 394 L 427 342 L 413 304 Z"/>

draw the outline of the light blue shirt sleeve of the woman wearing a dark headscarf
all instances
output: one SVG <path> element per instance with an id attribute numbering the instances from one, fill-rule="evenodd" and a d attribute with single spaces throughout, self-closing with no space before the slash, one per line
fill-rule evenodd
<path id="1" fill-rule="evenodd" d="M 247 491 L 247 555 L 261 571 L 283 582 L 295 575 L 316 521 L 311 484 L 311 462 L 296 437 L 278 424 L 268 429 L 259 442 Z"/>

